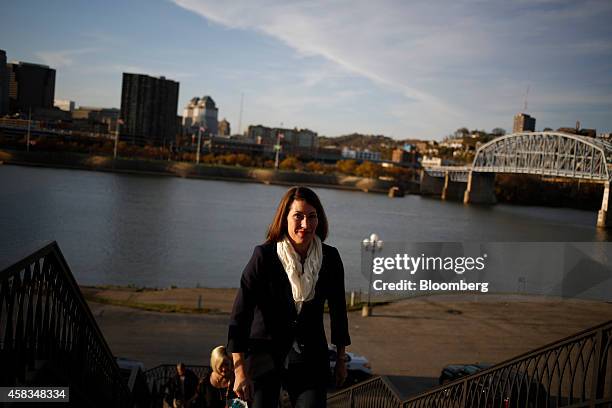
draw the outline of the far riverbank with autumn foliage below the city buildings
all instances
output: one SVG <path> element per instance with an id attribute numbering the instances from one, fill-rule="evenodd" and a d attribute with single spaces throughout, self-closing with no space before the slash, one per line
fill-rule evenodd
<path id="1" fill-rule="evenodd" d="M 309 185 L 312 187 L 364 191 L 387 194 L 396 183 L 341 174 L 318 174 L 297 171 L 276 171 L 263 168 L 219 166 L 163 160 L 113 159 L 109 156 L 89 156 L 69 152 L 23 152 L 0 150 L 0 163 L 90 171 L 105 171 L 155 176 L 200 178 L 254 182 L 275 185 Z M 418 184 L 404 186 L 408 192 L 418 192 Z"/>

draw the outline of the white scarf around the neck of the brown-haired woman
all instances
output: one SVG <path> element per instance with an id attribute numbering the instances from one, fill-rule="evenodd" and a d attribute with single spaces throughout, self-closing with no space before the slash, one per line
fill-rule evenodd
<path id="1" fill-rule="evenodd" d="M 282 241 L 276 243 L 276 254 L 291 283 L 295 309 L 299 314 L 302 310 L 302 304 L 314 298 L 315 286 L 323 263 L 321 240 L 317 235 L 314 236 L 310 248 L 308 248 L 303 271 L 300 255 L 295 251 L 286 236 Z"/>

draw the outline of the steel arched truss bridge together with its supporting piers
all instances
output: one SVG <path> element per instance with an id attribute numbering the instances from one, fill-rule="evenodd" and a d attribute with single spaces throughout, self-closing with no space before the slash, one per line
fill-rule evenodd
<path id="1" fill-rule="evenodd" d="M 495 174 L 536 174 L 589 180 L 604 185 L 598 227 L 612 227 L 608 217 L 612 143 L 559 132 L 523 132 L 482 145 L 471 166 L 427 167 L 421 193 L 458 198 L 464 203 L 494 204 Z"/>

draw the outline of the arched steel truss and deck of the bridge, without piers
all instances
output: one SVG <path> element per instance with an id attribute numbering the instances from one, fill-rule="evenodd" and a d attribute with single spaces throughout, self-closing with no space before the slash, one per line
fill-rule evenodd
<path id="1" fill-rule="evenodd" d="M 467 181 L 469 172 L 538 174 L 609 182 L 612 143 L 558 132 L 513 133 L 498 137 L 476 151 L 469 167 L 430 167 L 433 177 Z"/>

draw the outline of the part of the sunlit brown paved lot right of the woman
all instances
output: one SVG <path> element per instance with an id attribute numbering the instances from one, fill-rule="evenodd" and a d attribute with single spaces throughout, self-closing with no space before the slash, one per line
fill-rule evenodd
<path id="1" fill-rule="evenodd" d="M 477 300 L 477 301 L 473 301 Z M 438 297 L 351 313 L 352 351 L 379 374 L 438 377 L 450 363 L 498 363 L 612 320 L 612 304 Z"/>

